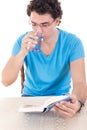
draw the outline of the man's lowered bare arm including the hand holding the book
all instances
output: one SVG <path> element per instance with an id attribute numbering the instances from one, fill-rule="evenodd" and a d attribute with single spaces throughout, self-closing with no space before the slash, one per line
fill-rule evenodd
<path id="1" fill-rule="evenodd" d="M 70 64 L 73 90 L 70 95 L 70 102 L 61 102 L 56 104 L 54 109 L 65 118 L 73 117 L 81 110 L 82 104 L 87 99 L 87 84 L 85 76 L 84 59 L 73 61 Z"/>

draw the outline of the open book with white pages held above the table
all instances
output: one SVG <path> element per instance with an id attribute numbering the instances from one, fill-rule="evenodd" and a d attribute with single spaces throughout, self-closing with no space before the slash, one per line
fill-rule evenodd
<path id="1" fill-rule="evenodd" d="M 21 106 L 19 112 L 48 112 L 53 108 L 57 103 L 61 101 L 70 101 L 69 96 L 52 96 L 49 97 L 43 105 L 24 105 Z"/>

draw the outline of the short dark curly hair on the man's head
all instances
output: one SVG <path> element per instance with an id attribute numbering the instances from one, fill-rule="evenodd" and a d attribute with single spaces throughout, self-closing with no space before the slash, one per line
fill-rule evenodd
<path id="1" fill-rule="evenodd" d="M 38 14 L 50 14 L 53 19 L 62 18 L 61 3 L 58 0 L 31 0 L 27 6 L 27 15 L 35 11 Z"/>

